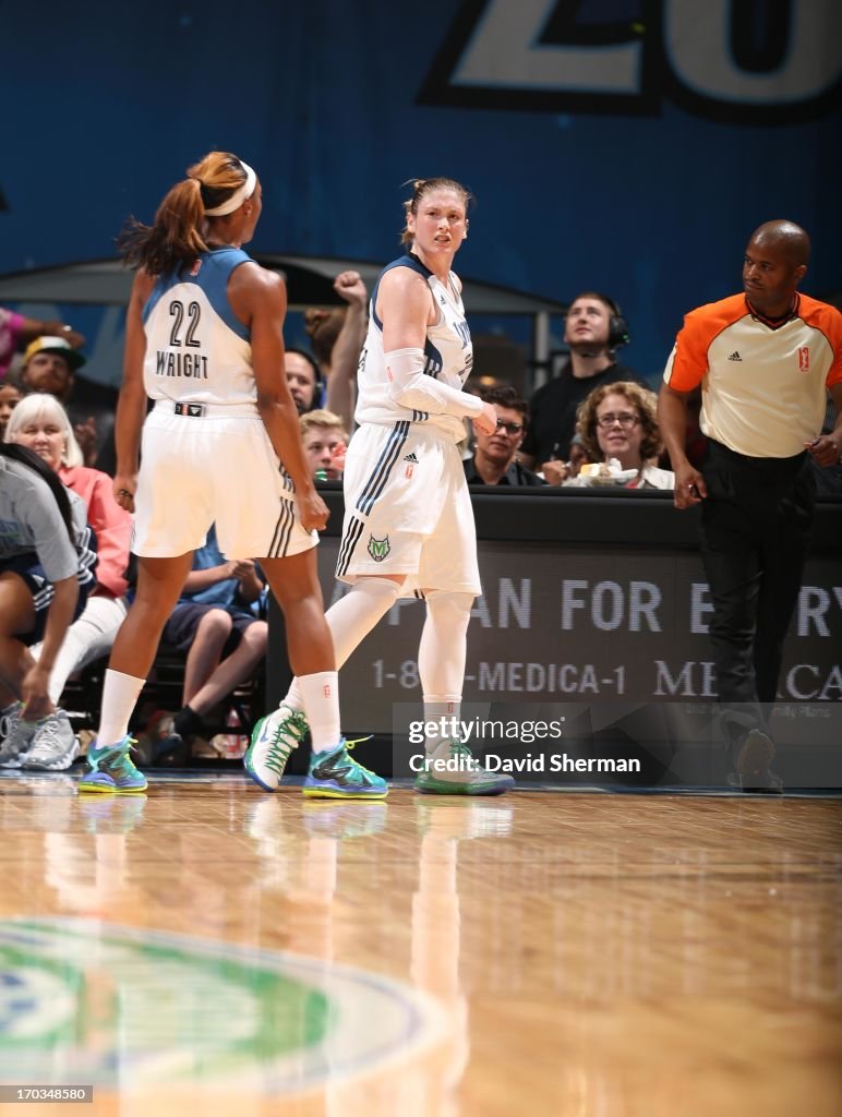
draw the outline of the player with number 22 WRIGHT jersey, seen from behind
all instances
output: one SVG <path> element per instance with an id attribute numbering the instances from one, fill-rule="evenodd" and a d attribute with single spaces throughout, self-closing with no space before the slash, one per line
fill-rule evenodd
<path id="1" fill-rule="evenodd" d="M 329 780 L 308 779 L 305 793 L 386 793 L 385 781 L 347 756 L 339 735 L 333 645 L 313 550 L 327 508 L 309 476 L 284 375 L 284 284 L 241 248 L 260 209 L 251 168 L 211 152 L 168 193 L 151 228 L 135 223 L 123 237 L 127 260 L 140 267 L 117 408 L 115 495 L 135 513 L 132 550 L 140 569 L 82 791 L 146 786 L 128 757 L 128 719 L 192 553 L 216 522 L 227 556 L 260 560 L 286 613 L 290 662 L 304 675 L 315 755 L 337 768 Z M 147 395 L 155 405 L 144 423 Z"/>

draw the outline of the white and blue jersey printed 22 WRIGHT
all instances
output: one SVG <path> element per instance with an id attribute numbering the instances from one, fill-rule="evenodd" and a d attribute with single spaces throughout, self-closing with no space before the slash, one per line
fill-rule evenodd
<path id="1" fill-rule="evenodd" d="M 240 248 L 214 248 L 159 278 L 143 308 L 151 399 L 256 410 L 250 333 L 228 302 L 229 276 L 250 259 Z"/>

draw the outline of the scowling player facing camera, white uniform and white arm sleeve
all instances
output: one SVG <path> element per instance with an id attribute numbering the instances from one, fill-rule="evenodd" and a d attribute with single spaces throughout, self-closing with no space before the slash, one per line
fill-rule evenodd
<path id="1" fill-rule="evenodd" d="M 345 522 L 337 577 L 352 590 L 327 613 L 336 665 L 352 651 L 399 596 L 421 592 L 427 621 L 419 649 L 425 720 L 459 718 L 467 630 L 481 592 L 477 541 L 457 442 L 469 417 L 477 430 L 497 427 L 491 404 L 462 391 L 472 350 L 451 270 L 468 230 L 469 194 L 450 179 L 414 183 L 405 203 L 403 241 L 409 247 L 384 269 L 372 294 L 371 324 L 360 365 L 356 420 L 345 460 Z M 269 767 L 277 772 L 286 722 L 298 716 L 303 695 L 295 680 L 280 708 L 258 726 L 275 742 Z M 427 743 L 428 765 L 419 791 L 499 794 L 508 776 L 480 767 L 466 746 L 447 734 Z M 447 761 L 457 758 L 451 771 Z M 438 763 L 442 762 L 442 763 Z M 264 771 L 264 785 L 271 779 Z"/>

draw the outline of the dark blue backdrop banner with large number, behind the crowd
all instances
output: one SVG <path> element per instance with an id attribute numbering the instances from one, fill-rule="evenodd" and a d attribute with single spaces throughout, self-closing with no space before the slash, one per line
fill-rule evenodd
<path id="1" fill-rule="evenodd" d="M 466 276 L 631 324 L 663 366 L 736 289 L 752 229 L 804 225 L 842 287 L 838 0 L 222 0 L 1 6 L 0 271 L 114 255 L 211 149 L 264 183 L 253 248 L 387 260 L 402 183 L 478 204 Z M 470 311 L 470 307 L 468 308 Z"/>

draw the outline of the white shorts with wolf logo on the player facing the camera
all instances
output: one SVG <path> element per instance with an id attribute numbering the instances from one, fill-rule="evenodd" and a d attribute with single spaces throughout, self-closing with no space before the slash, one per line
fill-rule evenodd
<path id="1" fill-rule="evenodd" d="M 366 423 L 345 458 L 336 576 L 406 574 L 417 590 L 482 592 L 477 532 L 459 449 L 434 428 Z"/>

